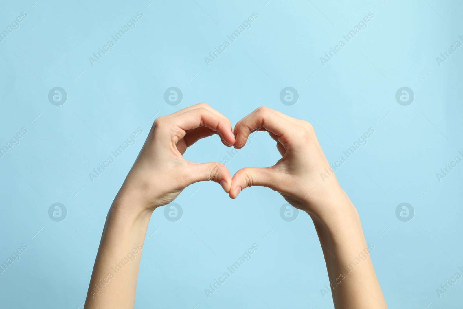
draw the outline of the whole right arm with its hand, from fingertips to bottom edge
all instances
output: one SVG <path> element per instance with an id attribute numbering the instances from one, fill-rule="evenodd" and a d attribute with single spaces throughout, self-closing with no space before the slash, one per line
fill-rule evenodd
<path id="1" fill-rule="evenodd" d="M 335 308 L 387 308 L 357 210 L 332 174 L 313 127 L 259 107 L 236 124 L 236 147 L 241 148 L 256 130 L 269 132 L 282 158 L 271 167 L 238 170 L 230 197 L 252 185 L 265 186 L 305 210 L 319 235 Z M 327 171 L 331 176 L 322 179 L 321 173 Z"/>

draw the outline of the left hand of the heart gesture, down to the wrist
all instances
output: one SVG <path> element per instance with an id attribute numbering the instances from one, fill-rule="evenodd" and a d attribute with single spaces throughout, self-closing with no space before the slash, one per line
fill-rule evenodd
<path id="1" fill-rule="evenodd" d="M 232 177 L 219 163 L 194 163 L 182 157 L 188 146 L 218 134 L 222 143 L 235 143 L 230 120 L 206 103 L 157 118 L 115 202 L 124 200 L 137 210 L 153 211 L 172 202 L 192 183 L 213 180 L 230 192 Z"/>

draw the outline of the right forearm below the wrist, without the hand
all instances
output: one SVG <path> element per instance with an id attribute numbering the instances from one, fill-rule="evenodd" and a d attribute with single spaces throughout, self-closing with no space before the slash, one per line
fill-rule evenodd
<path id="1" fill-rule="evenodd" d="M 325 256 L 335 308 L 387 308 L 357 210 L 342 189 L 311 214 Z M 322 202 L 322 201 L 320 201 Z"/>

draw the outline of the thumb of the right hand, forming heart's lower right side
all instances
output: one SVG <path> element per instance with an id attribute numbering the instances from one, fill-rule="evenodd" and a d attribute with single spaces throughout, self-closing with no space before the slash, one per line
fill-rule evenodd
<path id="1" fill-rule="evenodd" d="M 250 186 L 276 187 L 277 179 L 272 167 L 245 167 L 238 170 L 232 178 L 230 197 L 236 198 L 242 189 Z"/>

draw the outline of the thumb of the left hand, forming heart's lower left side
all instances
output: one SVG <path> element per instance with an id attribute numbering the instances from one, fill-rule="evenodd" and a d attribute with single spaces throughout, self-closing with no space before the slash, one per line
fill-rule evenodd
<path id="1" fill-rule="evenodd" d="M 212 180 L 216 183 L 220 183 L 226 193 L 230 192 L 230 187 L 232 186 L 232 176 L 230 175 L 230 172 L 224 164 L 217 162 L 189 162 L 187 175 L 188 184 Z"/>

